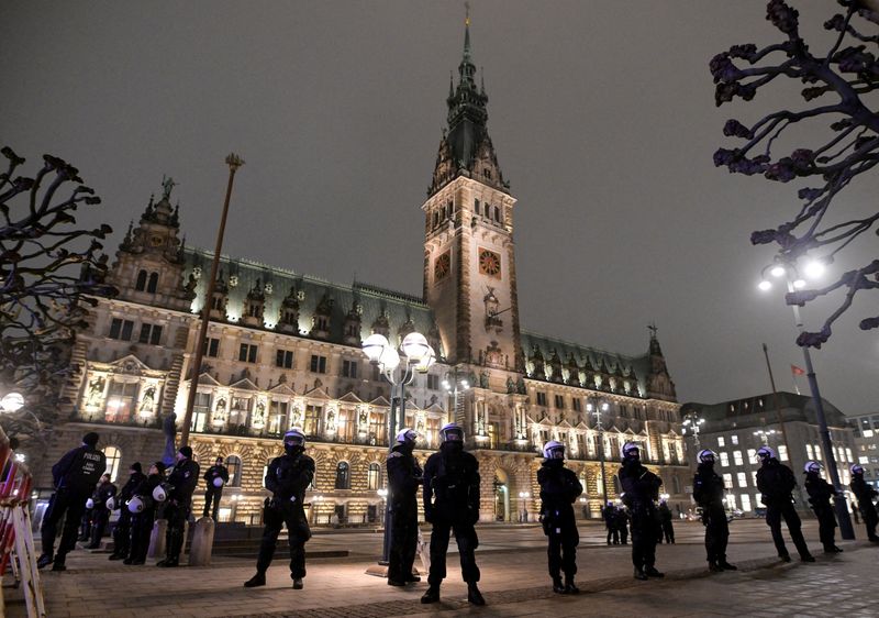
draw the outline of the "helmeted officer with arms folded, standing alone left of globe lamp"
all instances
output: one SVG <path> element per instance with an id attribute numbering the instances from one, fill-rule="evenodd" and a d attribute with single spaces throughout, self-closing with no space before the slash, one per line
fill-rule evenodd
<path id="1" fill-rule="evenodd" d="M 298 429 L 283 434 L 283 455 L 268 464 L 266 488 L 274 494 L 266 499 L 263 541 L 256 559 L 256 575 L 247 580 L 247 588 L 266 585 L 266 571 L 275 556 L 278 533 L 287 526 L 287 541 L 290 544 L 290 577 L 293 589 L 302 589 L 305 576 L 305 542 L 311 538 L 311 529 L 305 519 L 305 489 L 314 478 L 314 460 L 305 454 L 305 435 Z"/>

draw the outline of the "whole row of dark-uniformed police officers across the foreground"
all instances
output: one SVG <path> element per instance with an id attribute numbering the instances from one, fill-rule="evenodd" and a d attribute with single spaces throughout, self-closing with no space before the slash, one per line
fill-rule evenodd
<path id="1" fill-rule="evenodd" d="M 454 533 L 460 555 L 461 575 L 467 583 L 467 600 L 474 605 L 485 605 L 485 598 L 477 585 L 480 573 L 475 558 L 479 544 L 474 528 L 479 520 L 479 463 L 471 453 L 464 450 L 464 430 L 449 423 L 439 430 L 439 450 L 431 454 L 422 471 L 413 453 L 418 438 L 412 429 L 401 430 L 387 460 L 392 517 L 388 585 L 407 586 L 421 581 L 413 571 L 419 534 L 418 492 L 421 489 L 424 518 L 433 526 L 427 589 L 421 602 L 431 604 L 439 600 L 439 587 L 446 577 L 448 542 Z M 185 526 L 190 516 L 192 493 L 199 474 L 199 465 L 192 460 L 192 450 L 189 446 L 178 450 L 177 461 L 167 479 L 162 462 L 154 463 L 148 475 L 142 473 L 140 464 L 132 464 L 130 478 L 116 495 L 109 476 L 103 475 L 107 462 L 104 454 L 97 449 L 98 440 L 97 433 L 87 433 L 82 438 L 82 444 L 65 454 L 52 468 L 56 490 L 43 519 L 43 554 L 38 559 L 38 565 L 43 567 L 53 564 L 53 571 L 66 570 L 65 556 L 75 547 L 77 525 L 86 503 L 98 499 L 108 511 L 108 518 L 109 511 L 121 508 L 119 523 L 113 531 L 114 551 L 110 560 L 124 560 L 125 564 L 144 564 L 156 510 L 163 508 L 164 517 L 168 520 L 167 554 L 157 565 L 178 566 Z M 256 574 L 244 583 L 246 587 L 266 584 L 266 572 L 271 564 L 280 530 L 285 526 L 288 531 L 292 587 L 303 587 L 305 542 L 311 538 L 304 500 L 305 490 L 314 478 L 315 465 L 314 460 L 305 454 L 305 435 L 298 429 L 283 435 L 283 451 L 281 456 L 269 463 L 266 474 L 265 486 L 272 497 L 265 501 L 265 529 Z M 793 507 L 792 492 L 797 486 L 793 472 L 781 464 L 768 446 L 757 451 L 757 455 L 760 459 L 757 487 L 766 505 L 766 522 L 771 530 L 779 558 L 790 562 L 790 554 L 781 537 L 783 519 L 800 560 L 814 562 Z M 541 522 L 548 538 L 547 558 L 553 591 L 558 594 L 577 594 L 579 588 L 575 584 L 575 575 L 579 533 L 572 505 L 582 494 L 583 487 L 577 475 L 565 467 L 565 445 L 561 442 L 547 442 L 543 448 L 543 456 L 544 461 L 537 471 L 537 483 L 541 487 Z M 724 506 L 724 483 L 714 472 L 716 455 L 710 450 L 703 450 L 699 452 L 698 459 L 693 499 L 702 510 L 709 569 L 735 571 L 736 566 L 726 560 L 730 528 Z M 824 551 L 838 553 L 843 550 L 834 541 L 836 519 L 831 506 L 835 492 L 832 485 L 821 478 L 821 468 L 817 462 L 810 461 L 805 464 L 805 488 L 819 520 Z M 879 543 L 876 534 L 879 516 L 872 501 L 877 492 L 864 481 L 864 468 L 860 465 L 853 465 L 852 474 L 852 490 L 858 498 L 868 538 Z M 102 475 L 105 478 L 101 479 L 96 489 Z M 663 577 L 664 574 L 656 569 L 656 544 L 661 534 L 661 528 L 657 526 L 657 503 L 663 481 L 642 464 L 641 451 L 632 442 L 623 445 L 619 477 L 623 504 L 631 521 L 634 577 Z M 208 517 L 211 512 L 213 503 L 212 512 L 215 519 L 223 485 L 229 481 L 229 471 L 223 465 L 222 457 L 208 470 L 204 481 L 208 487 L 204 516 Z M 113 487 L 112 490 L 108 485 Z M 65 519 L 65 525 L 58 551 L 55 552 L 55 537 L 62 518 Z M 105 520 L 99 519 L 96 525 L 98 540 L 105 523 Z"/>

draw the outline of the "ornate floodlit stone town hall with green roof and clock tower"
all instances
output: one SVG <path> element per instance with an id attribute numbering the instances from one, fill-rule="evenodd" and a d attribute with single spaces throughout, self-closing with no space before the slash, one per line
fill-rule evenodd
<path id="1" fill-rule="evenodd" d="M 318 464 L 308 494 L 312 520 L 325 523 L 335 514 L 341 522 L 376 521 L 391 395 L 359 344 L 374 332 L 399 344 L 418 330 L 438 362 L 407 388 L 403 424 L 422 435 L 418 453 L 426 459 L 439 428 L 463 420 L 480 461 L 483 521 L 536 516 L 537 453 L 550 439 L 568 445 L 583 479 L 583 516 L 600 512 L 600 440 L 610 498 L 617 492 L 620 446 L 631 440 L 643 444 L 672 504 L 687 504 L 679 406 L 655 331 L 647 354 L 626 356 L 520 330 L 516 200 L 488 136 L 488 97 L 475 84 L 470 57 L 467 32 L 460 80 L 448 98 L 449 126 L 422 206 L 422 297 L 223 256 L 207 299 L 212 255 L 178 240 L 179 207 L 171 207 L 173 183 L 166 183 L 119 247 L 112 272 L 119 296 L 98 299 L 79 335 L 84 371 L 67 389 L 70 423 L 55 432 L 45 462 L 76 443 L 86 426 L 98 426 L 123 471 L 135 460 L 158 459 L 162 419 L 170 412 L 183 419 L 197 373 L 193 450 L 202 465 L 222 455 L 235 468 L 222 519 L 258 522 L 265 466 L 280 454 L 283 432 L 298 427 Z M 198 342 L 204 302 L 211 323 Z M 199 344 L 204 360 L 193 367 Z M 465 377 L 470 388 L 458 393 L 455 410 L 442 383 Z M 590 409 L 602 410 L 601 426 Z"/>

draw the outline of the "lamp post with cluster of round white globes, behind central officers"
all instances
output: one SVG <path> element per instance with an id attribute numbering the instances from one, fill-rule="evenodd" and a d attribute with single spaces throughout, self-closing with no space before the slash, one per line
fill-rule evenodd
<path id="1" fill-rule="evenodd" d="M 415 378 L 415 374 L 427 373 L 427 369 L 436 362 L 436 353 L 430 346 L 425 336 L 419 332 L 411 332 L 403 338 L 400 345 L 400 353 L 388 342 L 382 334 L 370 334 L 363 342 L 363 351 L 369 362 L 378 366 L 379 372 L 391 385 L 391 410 L 388 418 L 388 450 L 393 448 L 393 439 L 397 434 L 397 402 L 400 402 L 400 420 L 405 422 L 405 387 Z M 396 377 L 397 367 L 400 367 L 400 377 Z M 388 565 L 391 549 L 391 528 L 393 526 L 393 514 L 391 512 L 391 487 L 387 487 L 388 494 L 385 500 L 385 539 L 381 549 L 381 566 Z M 367 573 L 372 573 L 367 571 Z M 387 575 L 387 571 L 375 573 Z"/>

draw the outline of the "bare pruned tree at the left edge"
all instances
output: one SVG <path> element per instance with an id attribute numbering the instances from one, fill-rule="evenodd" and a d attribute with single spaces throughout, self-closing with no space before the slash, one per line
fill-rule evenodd
<path id="1" fill-rule="evenodd" d="M 0 387 L 19 390 L 24 407 L 0 418 L 10 435 L 43 437 L 57 420 L 77 329 L 92 295 L 113 296 L 103 283 L 107 256 L 99 242 L 110 225 L 77 228 L 74 212 L 100 198 L 76 167 L 44 155 L 33 178 L 15 176 L 24 159 L 0 153 Z"/>

